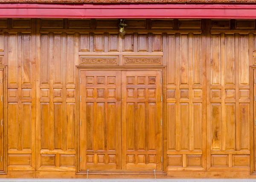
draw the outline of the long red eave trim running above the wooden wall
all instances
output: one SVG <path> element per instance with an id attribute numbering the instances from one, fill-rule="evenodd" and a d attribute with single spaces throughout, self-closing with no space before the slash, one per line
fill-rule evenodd
<path id="1" fill-rule="evenodd" d="M 0 4 L 0 18 L 256 19 L 256 4 Z"/>

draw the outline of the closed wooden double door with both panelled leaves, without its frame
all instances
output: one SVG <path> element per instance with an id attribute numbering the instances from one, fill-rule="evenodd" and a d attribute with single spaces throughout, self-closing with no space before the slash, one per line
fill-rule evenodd
<path id="1" fill-rule="evenodd" d="M 162 170 L 161 75 L 80 71 L 79 170 Z"/>

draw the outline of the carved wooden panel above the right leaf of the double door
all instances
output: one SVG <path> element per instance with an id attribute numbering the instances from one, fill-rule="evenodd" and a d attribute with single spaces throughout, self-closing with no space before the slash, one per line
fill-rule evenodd
<path id="1" fill-rule="evenodd" d="M 162 64 L 162 59 L 158 58 L 125 58 L 125 64 Z"/>

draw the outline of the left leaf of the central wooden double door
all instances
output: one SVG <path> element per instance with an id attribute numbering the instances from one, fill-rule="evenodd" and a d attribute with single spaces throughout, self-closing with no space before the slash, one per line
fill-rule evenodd
<path id="1" fill-rule="evenodd" d="M 80 74 L 80 170 L 121 169 L 121 72 Z"/>

